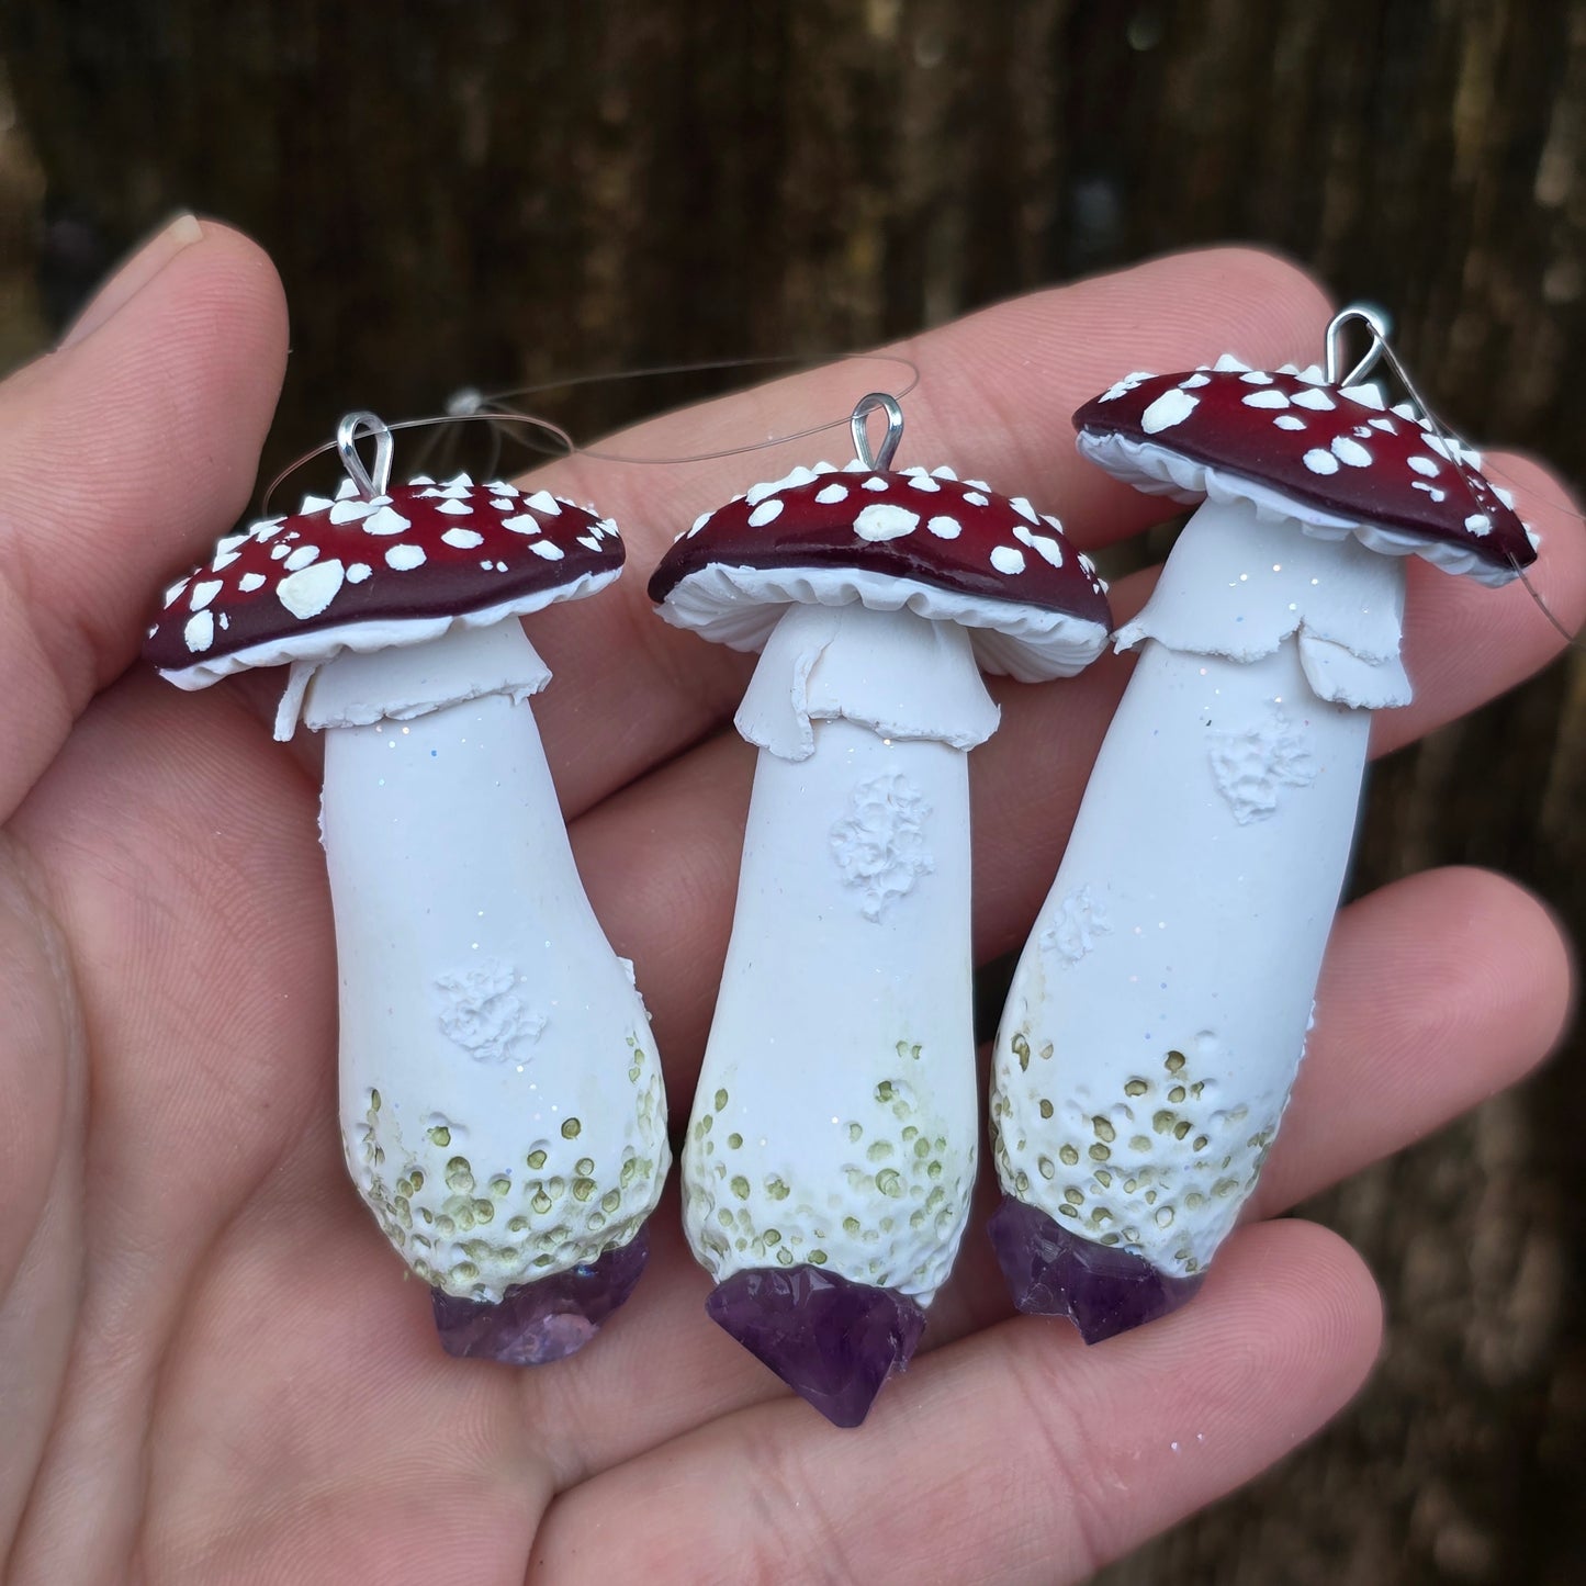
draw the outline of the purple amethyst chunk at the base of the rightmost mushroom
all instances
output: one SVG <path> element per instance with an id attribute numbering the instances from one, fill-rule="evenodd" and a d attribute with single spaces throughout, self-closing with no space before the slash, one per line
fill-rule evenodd
<path id="1" fill-rule="evenodd" d="M 1166 1316 L 1202 1281 L 1199 1274 L 1159 1272 L 1120 1245 L 1080 1239 L 1012 1196 L 993 1213 L 990 1234 L 1013 1304 L 1032 1316 L 1067 1316 L 1086 1343 Z"/>

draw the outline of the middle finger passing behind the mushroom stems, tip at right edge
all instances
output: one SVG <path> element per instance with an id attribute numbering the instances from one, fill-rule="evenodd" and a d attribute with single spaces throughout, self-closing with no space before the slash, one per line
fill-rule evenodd
<path id="1" fill-rule="evenodd" d="M 1586 533 L 1564 512 L 1557 519 L 1545 530 L 1535 582 L 1569 623 L 1586 609 Z M 1378 752 L 1496 698 L 1562 646 L 1524 587 L 1488 590 L 1419 571 L 1410 665 L 1424 684 L 1410 706 L 1380 718 Z M 1117 607 L 1132 611 L 1150 577 L 1120 580 Z M 969 761 L 977 963 L 1023 945 L 1129 668 L 1105 657 L 1067 682 L 991 679 L 1002 722 Z M 752 766 L 753 750 L 726 730 L 574 823 L 590 899 L 652 988 L 657 1040 L 685 1075 L 704 1044 L 726 950 Z"/>

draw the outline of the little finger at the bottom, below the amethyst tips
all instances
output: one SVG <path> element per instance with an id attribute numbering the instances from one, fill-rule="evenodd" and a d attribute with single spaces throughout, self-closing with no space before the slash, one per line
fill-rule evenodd
<path id="1" fill-rule="evenodd" d="M 866 1424 L 760 1405 L 565 1492 L 530 1581 L 1077 1581 L 1288 1453 L 1359 1386 L 1377 1291 L 1323 1229 L 1229 1242 L 1194 1305 L 1085 1348 L 1018 1318 L 918 1361 Z M 601 1516 L 622 1515 L 615 1530 Z"/>

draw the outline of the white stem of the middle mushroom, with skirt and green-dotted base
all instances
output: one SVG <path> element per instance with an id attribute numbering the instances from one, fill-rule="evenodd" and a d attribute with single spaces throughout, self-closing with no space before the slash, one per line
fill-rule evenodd
<path id="1" fill-rule="evenodd" d="M 996 706 L 956 623 L 790 606 L 737 725 L 761 755 L 688 1240 L 718 1283 L 807 1262 L 929 1304 L 974 1185 L 967 749 Z"/>

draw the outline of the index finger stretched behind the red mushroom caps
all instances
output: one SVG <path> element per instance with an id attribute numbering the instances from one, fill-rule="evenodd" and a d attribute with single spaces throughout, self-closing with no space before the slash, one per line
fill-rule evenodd
<path id="1" fill-rule="evenodd" d="M 1177 509 L 1082 462 L 1072 411 L 1126 370 L 1182 368 L 1231 344 L 1256 362 L 1308 354 L 1326 319 L 1305 274 L 1245 249 L 1182 254 L 999 305 L 899 349 L 920 368 L 904 403 L 906 460 L 945 462 L 1028 495 L 1061 514 L 1080 544 L 1134 533 Z M 536 714 L 571 814 L 707 733 L 742 693 L 750 660 L 655 619 L 644 585 L 661 552 L 733 493 L 847 447 L 847 414 L 874 382 L 871 365 L 837 363 L 653 420 L 606 449 L 687 457 L 836 419 L 829 439 L 668 468 L 573 458 L 536 474 L 595 501 L 628 542 L 614 592 L 544 612 L 530 628 L 557 672 Z"/>

